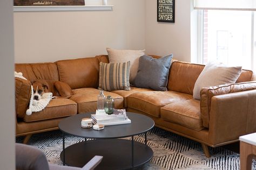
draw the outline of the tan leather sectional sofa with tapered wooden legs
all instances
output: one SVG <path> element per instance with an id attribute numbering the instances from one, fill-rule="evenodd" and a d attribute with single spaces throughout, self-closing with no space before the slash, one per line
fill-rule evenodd
<path id="1" fill-rule="evenodd" d="M 154 56 L 158 57 L 158 56 Z M 58 129 L 58 123 L 67 116 L 95 111 L 99 94 L 99 62 L 109 62 L 106 55 L 95 58 L 62 60 L 55 63 L 16 64 L 29 81 L 16 81 L 16 136 Z M 217 147 L 238 141 L 238 137 L 256 132 L 256 82 L 253 73 L 243 70 L 237 83 L 201 90 L 201 100 L 193 99 L 194 84 L 204 65 L 173 61 L 168 91 L 154 91 L 131 87 L 130 91 L 104 91 L 114 98 L 115 108 L 126 108 L 151 117 L 159 128 L 177 133 L 202 144 L 206 157 L 208 146 Z M 48 82 L 53 95 L 58 91 L 56 81 L 69 84 L 70 98 L 57 98 L 40 112 L 25 114 L 30 98 L 30 81 Z"/>

